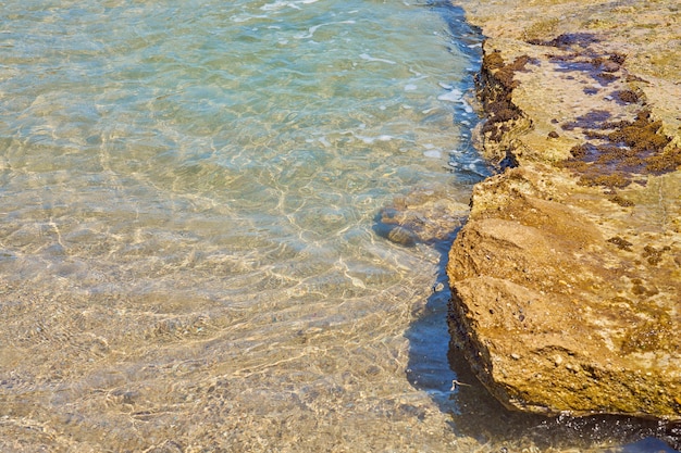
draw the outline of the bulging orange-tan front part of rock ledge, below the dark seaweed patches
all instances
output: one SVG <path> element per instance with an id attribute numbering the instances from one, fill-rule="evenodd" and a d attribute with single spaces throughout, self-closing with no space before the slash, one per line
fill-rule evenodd
<path id="1" fill-rule="evenodd" d="M 589 194 L 537 167 L 476 187 L 447 268 L 453 338 L 509 407 L 681 419 L 681 244 Z"/>

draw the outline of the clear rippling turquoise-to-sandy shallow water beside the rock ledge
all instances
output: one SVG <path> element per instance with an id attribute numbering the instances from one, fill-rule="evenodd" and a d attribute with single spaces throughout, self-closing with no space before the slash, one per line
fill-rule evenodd
<path id="1" fill-rule="evenodd" d="M 655 433 L 451 391 L 473 380 L 447 355 L 447 243 L 373 231 L 395 197 L 465 204 L 486 174 L 468 141 L 479 42 L 442 4 L 4 4 L 0 450 L 598 450 Z"/>

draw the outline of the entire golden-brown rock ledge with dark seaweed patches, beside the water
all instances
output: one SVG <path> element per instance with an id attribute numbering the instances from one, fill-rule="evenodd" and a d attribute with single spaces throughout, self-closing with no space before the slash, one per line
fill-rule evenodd
<path id="1" fill-rule="evenodd" d="M 677 1 L 458 1 L 490 37 L 450 331 L 509 407 L 681 420 Z"/>

